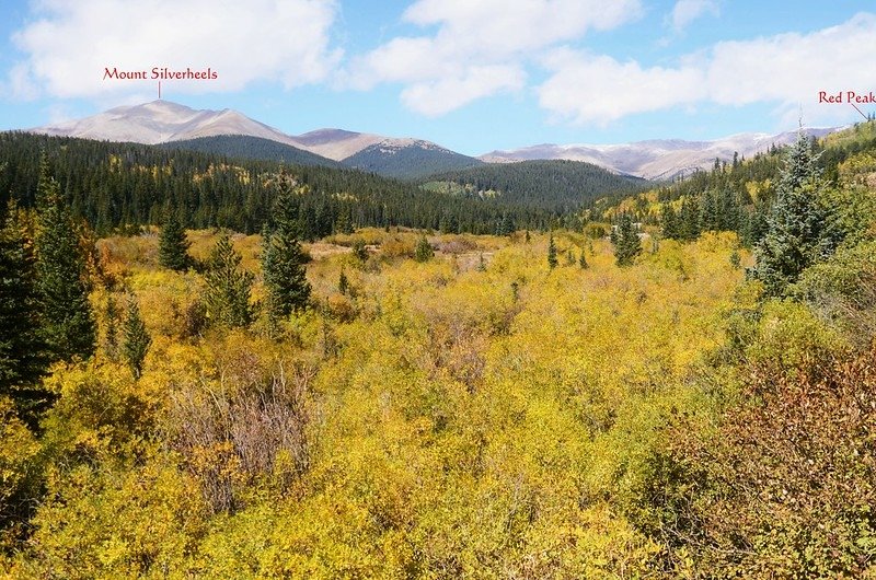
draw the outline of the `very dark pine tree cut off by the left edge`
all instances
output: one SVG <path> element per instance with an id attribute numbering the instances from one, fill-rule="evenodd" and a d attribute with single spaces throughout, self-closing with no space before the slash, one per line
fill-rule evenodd
<path id="1" fill-rule="evenodd" d="M 51 401 L 38 386 L 49 361 L 42 323 L 33 241 L 10 204 L 0 229 L 0 396 L 28 424 Z"/>

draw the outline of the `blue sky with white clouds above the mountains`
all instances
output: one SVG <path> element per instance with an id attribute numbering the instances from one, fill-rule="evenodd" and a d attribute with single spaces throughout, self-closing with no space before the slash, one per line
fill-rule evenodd
<path id="1" fill-rule="evenodd" d="M 465 154 L 862 120 L 873 0 L 0 0 L 0 129 L 158 97 Z M 819 93 L 842 103 L 819 103 Z M 865 114 L 876 103 L 860 103 Z"/>

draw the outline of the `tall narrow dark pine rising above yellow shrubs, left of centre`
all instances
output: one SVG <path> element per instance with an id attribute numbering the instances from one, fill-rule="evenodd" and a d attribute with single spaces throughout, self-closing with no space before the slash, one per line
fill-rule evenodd
<path id="1" fill-rule="evenodd" d="M 273 229 L 265 229 L 262 242 L 262 272 L 267 290 L 268 317 L 283 320 L 310 301 L 308 256 L 298 237 L 296 194 L 281 185 L 272 214 Z"/>

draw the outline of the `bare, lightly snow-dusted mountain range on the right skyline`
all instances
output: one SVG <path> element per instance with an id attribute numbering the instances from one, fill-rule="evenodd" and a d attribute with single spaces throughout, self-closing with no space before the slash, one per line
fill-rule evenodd
<path id="1" fill-rule="evenodd" d="M 839 130 L 807 129 L 807 134 L 822 137 Z M 671 179 L 711 167 L 715 158 L 733 160 L 734 152 L 750 158 L 796 139 L 797 131 L 770 134 L 740 134 L 714 141 L 684 141 L 680 139 L 638 141 L 625 144 L 539 144 L 508 151 L 493 151 L 479 159 L 487 163 L 509 163 L 537 159 L 565 159 L 585 161 L 615 173 L 636 175 L 647 179 Z"/>

